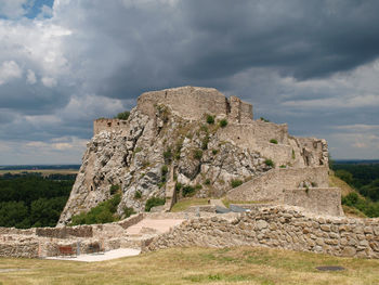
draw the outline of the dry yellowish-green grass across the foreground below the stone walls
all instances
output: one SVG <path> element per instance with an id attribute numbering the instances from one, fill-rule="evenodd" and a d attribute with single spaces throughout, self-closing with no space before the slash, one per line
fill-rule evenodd
<path id="1" fill-rule="evenodd" d="M 170 248 L 93 263 L 0 259 L 0 269 L 10 268 L 24 270 L 0 270 L 0 284 L 379 284 L 379 260 L 252 247 Z"/>

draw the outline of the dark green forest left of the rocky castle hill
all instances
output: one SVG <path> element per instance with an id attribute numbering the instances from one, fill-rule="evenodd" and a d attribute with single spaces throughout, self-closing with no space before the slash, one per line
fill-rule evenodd
<path id="1" fill-rule="evenodd" d="M 73 174 L 0 177 L 0 226 L 55 226 L 74 182 Z"/>

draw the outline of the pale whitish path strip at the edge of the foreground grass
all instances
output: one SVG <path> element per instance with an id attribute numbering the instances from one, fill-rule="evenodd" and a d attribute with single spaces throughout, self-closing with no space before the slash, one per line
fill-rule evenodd
<path id="1" fill-rule="evenodd" d="M 116 259 L 121 257 L 138 256 L 140 255 L 140 252 L 141 252 L 140 249 L 118 248 L 118 249 L 105 251 L 104 254 L 80 255 L 77 257 L 47 257 L 45 259 L 95 262 L 95 261 L 104 261 L 104 260 L 110 260 L 110 259 Z"/>

